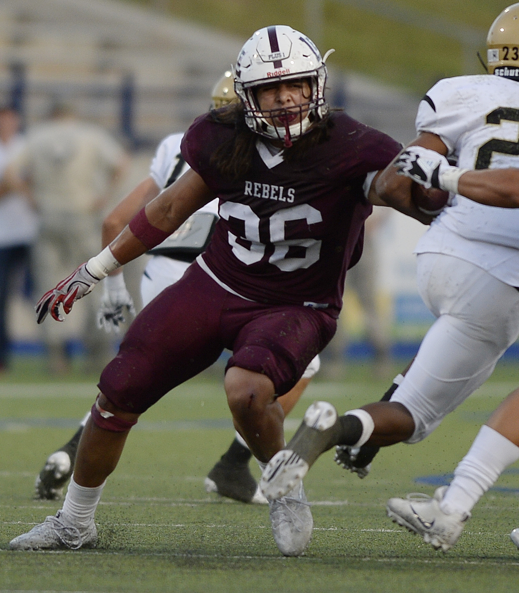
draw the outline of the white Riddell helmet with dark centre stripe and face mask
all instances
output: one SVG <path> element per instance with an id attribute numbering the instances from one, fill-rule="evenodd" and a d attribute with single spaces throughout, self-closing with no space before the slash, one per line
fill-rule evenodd
<path id="1" fill-rule="evenodd" d="M 241 48 L 236 60 L 234 88 L 245 107 L 245 121 L 253 132 L 272 139 L 284 140 L 291 146 L 310 129 L 312 123 L 328 112 L 324 98 L 327 69 L 314 42 L 287 25 L 273 25 L 257 30 Z M 307 78 L 310 82 L 309 103 L 300 106 L 300 122 L 284 127 L 269 123 L 273 117 L 284 116 L 286 109 L 260 111 L 254 88 L 268 82 Z M 294 110 L 291 110 L 294 113 Z M 288 121 L 288 119 L 287 119 Z"/>

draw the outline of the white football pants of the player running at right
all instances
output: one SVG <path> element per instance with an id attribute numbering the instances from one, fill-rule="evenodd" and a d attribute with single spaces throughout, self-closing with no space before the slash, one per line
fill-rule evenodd
<path id="1" fill-rule="evenodd" d="M 424 439 L 492 374 L 519 336 L 519 291 L 457 257 L 421 253 L 418 290 L 437 317 L 391 401 Z"/>

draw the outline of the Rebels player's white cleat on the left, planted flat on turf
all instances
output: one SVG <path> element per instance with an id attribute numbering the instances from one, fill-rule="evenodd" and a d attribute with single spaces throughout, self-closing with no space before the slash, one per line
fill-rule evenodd
<path id="1" fill-rule="evenodd" d="M 97 543 L 97 528 L 94 519 L 87 527 L 66 525 L 58 511 L 55 517 L 47 517 L 28 533 L 18 535 L 9 542 L 11 550 L 59 550 L 68 548 L 93 548 Z"/>

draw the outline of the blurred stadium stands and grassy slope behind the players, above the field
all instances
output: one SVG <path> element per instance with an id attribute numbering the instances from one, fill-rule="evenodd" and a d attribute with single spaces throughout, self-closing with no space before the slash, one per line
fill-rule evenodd
<path id="1" fill-rule="evenodd" d="M 329 59 L 329 98 L 400 142 L 413 138 L 419 98 L 444 76 L 482 71 L 486 30 L 507 0 L 2 0 L 0 101 L 29 127 L 56 98 L 113 132 L 132 155 L 114 200 L 146 176 L 155 146 L 208 109 L 209 93 L 256 28 L 286 21 Z M 281 16 L 279 16 L 281 14 Z M 412 250 L 425 228 L 391 212 L 375 240 L 377 303 L 394 357 L 409 358 L 432 317 L 415 288 Z M 143 262 L 125 275 L 134 295 Z M 138 299 L 138 297 L 137 297 Z M 349 358 L 372 354 L 354 292 L 342 325 Z M 14 352 L 42 351 L 32 303 L 10 304 Z M 346 344 L 346 343 L 345 343 Z M 517 358 L 512 347 L 508 356 Z"/>

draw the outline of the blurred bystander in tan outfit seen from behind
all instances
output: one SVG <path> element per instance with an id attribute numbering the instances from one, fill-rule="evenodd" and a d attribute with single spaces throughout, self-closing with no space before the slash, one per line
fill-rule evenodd
<path id="1" fill-rule="evenodd" d="M 34 257 L 38 293 L 45 292 L 79 266 L 101 245 L 101 221 L 128 157 L 106 130 L 79 121 L 66 104 L 56 104 L 47 122 L 29 130 L 27 141 L 9 168 L 9 176 L 24 184 L 41 218 Z M 81 301 L 75 320 L 43 324 L 49 370 L 69 370 L 71 340 L 86 348 L 90 372 L 111 358 L 111 345 L 95 329 L 95 299 Z"/>

